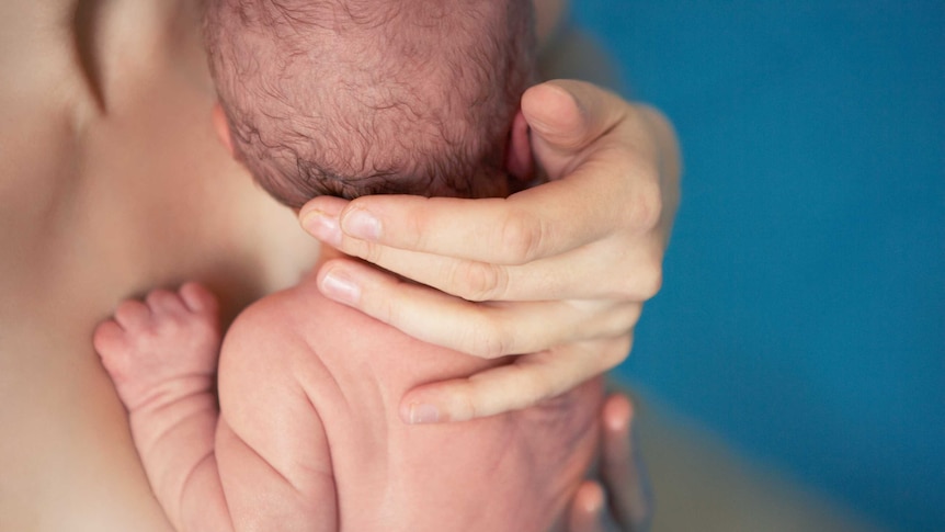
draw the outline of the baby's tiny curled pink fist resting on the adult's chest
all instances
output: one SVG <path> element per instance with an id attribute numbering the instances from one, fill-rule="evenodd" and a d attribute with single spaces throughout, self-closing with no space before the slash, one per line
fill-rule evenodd
<path id="1" fill-rule="evenodd" d="M 129 411 L 209 392 L 219 356 L 218 305 L 196 283 L 128 299 L 93 343 Z"/>

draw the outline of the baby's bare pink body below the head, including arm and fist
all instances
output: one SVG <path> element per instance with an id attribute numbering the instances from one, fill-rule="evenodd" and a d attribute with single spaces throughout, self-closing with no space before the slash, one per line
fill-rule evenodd
<path id="1" fill-rule="evenodd" d="M 95 333 L 177 530 L 563 530 L 597 445 L 600 377 L 526 410 L 410 427 L 407 389 L 493 364 L 333 303 L 309 275 L 227 332 L 218 414 L 216 310 L 186 284 L 123 303 Z"/>

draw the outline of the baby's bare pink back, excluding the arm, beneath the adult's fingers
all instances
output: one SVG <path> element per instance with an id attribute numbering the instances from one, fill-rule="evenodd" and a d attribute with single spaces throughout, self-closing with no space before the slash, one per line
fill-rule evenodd
<path id="1" fill-rule="evenodd" d="M 602 380 L 539 406 L 466 422 L 407 425 L 412 387 L 463 378 L 483 361 L 410 338 L 296 290 L 320 382 L 304 383 L 325 425 L 345 531 L 548 531 L 594 460 Z"/>

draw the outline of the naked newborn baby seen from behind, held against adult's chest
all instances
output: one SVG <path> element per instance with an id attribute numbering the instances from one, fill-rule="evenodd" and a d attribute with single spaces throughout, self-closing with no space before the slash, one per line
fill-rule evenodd
<path id="1" fill-rule="evenodd" d="M 210 0 L 221 133 L 295 210 L 318 194 L 508 195 L 534 173 L 517 105 L 535 79 L 531 24 L 531 0 Z M 597 445 L 600 378 L 526 410 L 411 426 L 407 390 L 506 361 L 414 340 L 322 297 L 314 273 L 223 341 L 217 319 L 190 283 L 124 302 L 94 337 L 178 530 L 563 527 Z"/>

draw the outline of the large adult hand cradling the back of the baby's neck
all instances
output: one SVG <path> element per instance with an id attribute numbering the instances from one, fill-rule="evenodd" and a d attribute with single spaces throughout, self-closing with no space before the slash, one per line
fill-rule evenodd
<path id="1" fill-rule="evenodd" d="M 431 343 L 519 355 L 409 392 L 408 422 L 524 408 L 614 367 L 660 287 L 679 201 L 669 123 L 580 81 L 528 89 L 522 112 L 548 183 L 490 200 L 317 197 L 300 212 L 315 237 L 386 270 L 328 261 L 326 296 Z"/>

